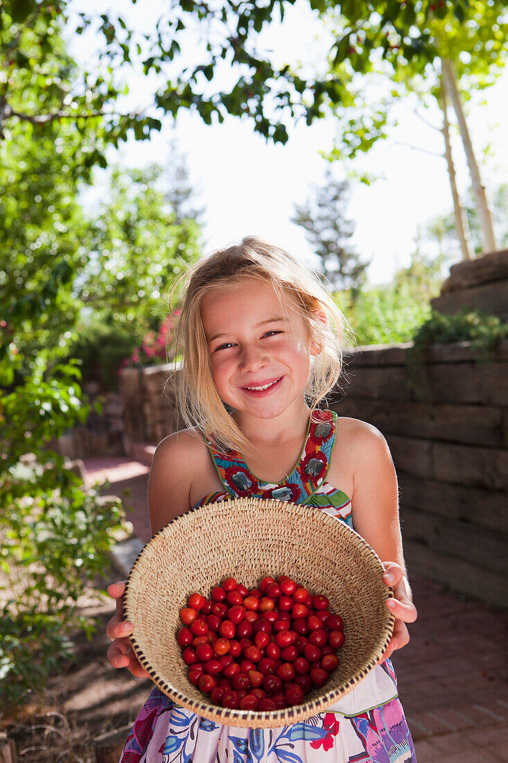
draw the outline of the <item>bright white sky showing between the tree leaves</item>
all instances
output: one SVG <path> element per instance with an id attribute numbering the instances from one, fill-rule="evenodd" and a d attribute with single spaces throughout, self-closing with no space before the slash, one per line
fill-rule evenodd
<path id="1" fill-rule="evenodd" d="M 73 3 L 83 6 L 84 0 Z M 105 5 L 98 0 L 86 2 L 88 12 L 97 5 L 104 12 Z M 130 6 L 126 0 L 109 2 L 117 13 L 127 15 L 138 29 L 147 29 L 157 18 L 160 0 L 143 0 Z M 294 59 L 294 40 L 298 40 L 297 55 L 316 55 L 323 50 L 323 40 L 317 39 L 320 29 L 315 16 L 305 2 L 297 2 L 288 9 L 281 27 L 267 35 L 268 45 L 281 57 Z M 83 38 L 73 38 L 72 54 L 77 60 L 89 56 L 89 47 Z M 129 82 L 130 102 L 146 104 L 146 79 L 133 77 Z M 484 105 L 481 101 L 484 100 Z M 506 121 L 508 103 L 508 72 L 504 72 L 496 85 L 477 98 L 477 104 L 468 119 L 477 156 L 490 145 L 490 156 L 484 164 L 484 185 L 490 187 L 506 182 L 508 168 L 508 142 L 503 140 L 499 127 Z M 441 124 L 439 113 L 426 118 L 436 127 Z M 401 143 L 420 146 L 427 152 L 442 153 L 442 137 L 416 118 L 407 105 L 397 108 L 398 126 L 393 140 L 380 142 L 362 166 L 380 179 L 370 186 L 355 185 L 348 216 L 355 221 L 352 244 L 365 259 L 372 259 L 368 269 L 371 283 L 386 282 L 398 266 L 407 265 L 414 250 L 419 226 L 430 218 L 446 214 L 452 208 L 449 180 L 445 160 Z M 274 146 L 252 131 L 252 125 L 238 118 L 227 118 L 223 124 L 207 126 L 189 112 L 178 115 L 176 124 L 170 118 L 163 122 L 160 134 L 153 133 L 150 141 L 128 142 L 118 156 L 125 166 L 143 166 L 147 163 L 166 163 L 169 140 L 175 137 L 179 149 L 185 153 L 191 184 L 201 189 L 198 204 L 205 208 L 205 250 L 224 246 L 232 240 L 256 234 L 275 241 L 295 254 L 301 254 L 313 264 L 312 253 L 302 228 L 291 223 L 294 204 L 304 202 L 310 185 L 320 184 L 327 163 L 319 152 L 328 150 L 333 139 L 332 120 L 322 120 L 307 127 L 300 124 L 291 132 L 285 146 Z M 458 137 L 453 139 L 459 192 L 468 188 L 468 172 Z M 333 172 L 344 176 L 339 162 Z M 100 194 L 100 189 L 97 189 Z"/>

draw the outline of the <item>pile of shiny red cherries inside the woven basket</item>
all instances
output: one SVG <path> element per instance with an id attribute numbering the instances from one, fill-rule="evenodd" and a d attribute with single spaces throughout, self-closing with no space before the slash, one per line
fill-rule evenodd
<path id="1" fill-rule="evenodd" d="M 189 681 L 221 707 L 301 704 L 339 665 L 344 623 L 329 605 L 287 575 L 251 591 L 226 578 L 210 599 L 191 594 L 178 631 Z"/>

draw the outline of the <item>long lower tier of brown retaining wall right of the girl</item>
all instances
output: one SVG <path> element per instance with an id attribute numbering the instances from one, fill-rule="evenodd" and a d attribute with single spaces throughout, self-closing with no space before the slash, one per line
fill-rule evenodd
<path id="1" fill-rule="evenodd" d="M 347 357 L 341 416 L 384 434 L 400 487 L 407 568 L 489 604 L 508 605 L 508 342 L 491 362 L 469 343 L 433 346 L 408 382 L 410 344 Z"/>

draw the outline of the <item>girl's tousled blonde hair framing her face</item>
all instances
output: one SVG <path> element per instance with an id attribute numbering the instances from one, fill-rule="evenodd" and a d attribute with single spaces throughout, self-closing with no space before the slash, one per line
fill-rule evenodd
<path id="1" fill-rule="evenodd" d="M 183 353 L 176 374 L 176 404 L 184 427 L 198 427 L 206 439 L 213 436 L 223 449 L 252 451 L 235 420 L 220 399 L 211 375 L 210 353 L 201 320 L 201 302 L 211 289 L 259 278 L 275 289 L 282 307 L 289 295 L 304 319 L 310 339 L 320 347 L 314 356 L 305 388 L 311 414 L 335 388 L 342 373 L 342 340 L 346 320 L 320 279 L 291 254 L 257 237 L 215 250 L 178 278 L 169 305 L 178 304 L 180 314 L 175 333 L 176 353 Z M 174 314 L 174 312 L 173 312 Z"/>

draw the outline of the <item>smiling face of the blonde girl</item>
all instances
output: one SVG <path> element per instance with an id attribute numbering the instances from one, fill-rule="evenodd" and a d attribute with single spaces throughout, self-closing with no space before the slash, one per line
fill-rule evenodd
<path id="1" fill-rule="evenodd" d="M 214 384 L 240 417 L 272 418 L 301 406 L 317 349 L 291 297 L 283 311 L 269 282 L 246 277 L 212 288 L 201 319 Z"/>

